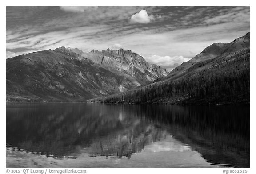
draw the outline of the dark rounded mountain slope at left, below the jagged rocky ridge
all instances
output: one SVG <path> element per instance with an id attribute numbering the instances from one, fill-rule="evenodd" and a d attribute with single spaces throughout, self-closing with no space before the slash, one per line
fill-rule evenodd
<path id="1" fill-rule="evenodd" d="M 7 101 L 83 101 L 115 93 L 122 78 L 62 49 L 6 59 Z"/>

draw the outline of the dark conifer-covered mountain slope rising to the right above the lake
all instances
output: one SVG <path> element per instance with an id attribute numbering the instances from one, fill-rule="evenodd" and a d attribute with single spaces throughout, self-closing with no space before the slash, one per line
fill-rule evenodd
<path id="1" fill-rule="evenodd" d="M 105 103 L 234 104 L 250 102 L 250 33 L 214 43 L 139 89 L 91 101 Z"/>

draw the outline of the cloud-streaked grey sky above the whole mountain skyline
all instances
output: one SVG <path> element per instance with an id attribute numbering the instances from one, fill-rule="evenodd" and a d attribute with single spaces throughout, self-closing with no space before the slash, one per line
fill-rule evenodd
<path id="1" fill-rule="evenodd" d="M 249 6 L 6 6 L 6 58 L 60 46 L 123 48 L 170 71 L 247 32 Z"/>

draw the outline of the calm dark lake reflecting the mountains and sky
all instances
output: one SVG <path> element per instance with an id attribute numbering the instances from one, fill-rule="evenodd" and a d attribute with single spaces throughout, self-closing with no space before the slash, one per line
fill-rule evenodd
<path id="1" fill-rule="evenodd" d="M 250 107 L 6 104 L 7 168 L 249 168 Z"/>

